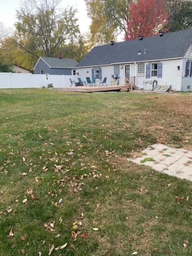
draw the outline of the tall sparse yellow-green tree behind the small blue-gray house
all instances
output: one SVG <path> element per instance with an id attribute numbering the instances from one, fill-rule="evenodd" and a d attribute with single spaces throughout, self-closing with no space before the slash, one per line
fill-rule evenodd
<path id="1" fill-rule="evenodd" d="M 79 34 L 76 10 L 60 8 L 60 0 L 23 0 L 17 10 L 16 41 L 20 49 L 37 58 L 52 57 Z M 60 10 L 60 12 L 58 12 Z"/>

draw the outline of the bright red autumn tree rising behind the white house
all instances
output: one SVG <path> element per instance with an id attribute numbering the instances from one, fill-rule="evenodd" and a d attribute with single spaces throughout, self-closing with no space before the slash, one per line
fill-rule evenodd
<path id="1" fill-rule="evenodd" d="M 166 0 L 132 0 L 125 40 L 157 34 L 168 24 L 168 17 Z"/>

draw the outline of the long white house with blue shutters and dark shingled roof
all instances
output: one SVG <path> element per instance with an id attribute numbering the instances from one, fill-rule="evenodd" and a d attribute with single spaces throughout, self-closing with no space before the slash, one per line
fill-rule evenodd
<path id="1" fill-rule="evenodd" d="M 78 64 L 80 78 L 107 77 L 153 90 L 192 90 L 192 29 L 94 47 Z"/>

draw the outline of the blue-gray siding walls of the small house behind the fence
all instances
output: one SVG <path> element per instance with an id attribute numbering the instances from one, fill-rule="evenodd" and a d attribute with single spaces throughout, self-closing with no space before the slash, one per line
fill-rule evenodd
<path id="1" fill-rule="evenodd" d="M 41 74 L 41 70 L 43 70 L 43 74 L 71 75 L 73 69 L 76 68 L 50 68 L 42 59 L 40 59 L 34 68 L 34 74 Z"/>

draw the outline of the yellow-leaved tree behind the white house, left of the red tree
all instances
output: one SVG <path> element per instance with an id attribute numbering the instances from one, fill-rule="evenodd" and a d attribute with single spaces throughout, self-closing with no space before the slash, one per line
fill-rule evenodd
<path id="1" fill-rule="evenodd" d="M 85 0 L 91 18 L 90 32 L 94 44 L 108 44 L 120 32 L 127 33 L 126 24 L 131 0 Z"/>

